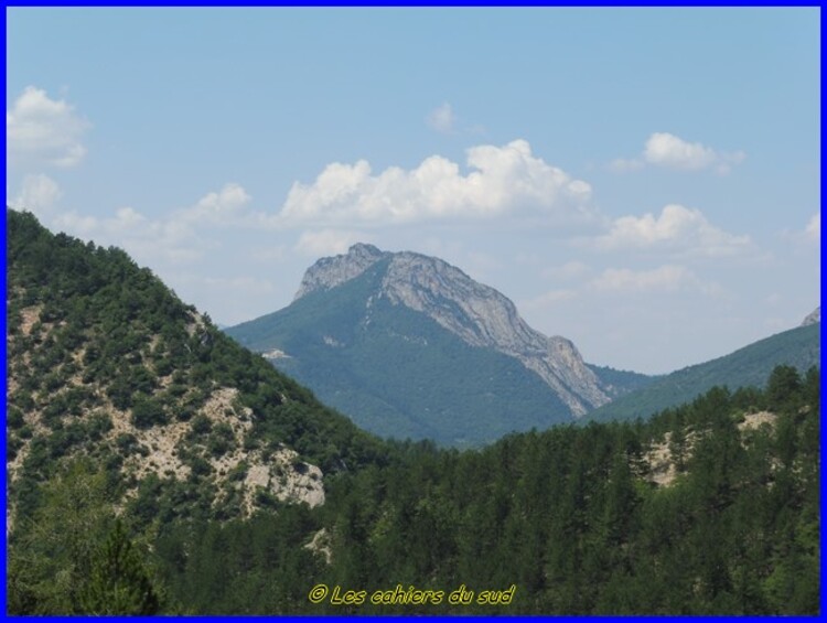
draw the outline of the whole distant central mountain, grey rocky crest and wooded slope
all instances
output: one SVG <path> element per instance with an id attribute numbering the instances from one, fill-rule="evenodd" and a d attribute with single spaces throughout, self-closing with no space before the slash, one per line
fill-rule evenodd
<path id="1" fill-rule="evenodd" d="M 372 432 L 459 447 L 572 421 L 645 378 L 602 380 L 493 288 L 370 245 L 319 260 L 288 308 L 226 333 Z"/>

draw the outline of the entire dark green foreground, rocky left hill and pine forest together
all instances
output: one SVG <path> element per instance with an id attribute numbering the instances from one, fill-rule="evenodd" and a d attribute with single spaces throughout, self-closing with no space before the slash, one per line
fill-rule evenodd
<path id="1" fill-rule="evenodd" d="M 122 251 L 7 223 L 10 613 L 818 613 L 815 368 L 384 442 Z"/>

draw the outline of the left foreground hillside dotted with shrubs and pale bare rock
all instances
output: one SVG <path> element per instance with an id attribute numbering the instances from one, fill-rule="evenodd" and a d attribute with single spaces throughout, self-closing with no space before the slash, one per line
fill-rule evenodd
<path id="1" fill-rule="evenodd" d="M 325 474 L 386 460 L 376 439 L 123 251 L 53 235 L 28 213 L 7 210 L 7 227 L 12 610 L 87 610 L 79 571 L 64 573 L 69 597 L 52 594 L 55 566 L 85 560 L 87 572 L 92 563 L 89 543 L 82 556 L 63 540 L 68 512 L 57 500 L 77 506 L 77 538 L 104 543 L 120 513 L 136 538 L 151 540 L 174 519 L 323 503 Z M 75 485 L 88 492 L 76 502 L 65 497 Z"/>

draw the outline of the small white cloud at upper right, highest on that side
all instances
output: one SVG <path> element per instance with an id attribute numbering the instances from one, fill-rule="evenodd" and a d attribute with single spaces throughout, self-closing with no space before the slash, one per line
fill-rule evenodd
<path id="1" fill-rule="evenodd" d="M 734 164 L 743 162 L 743 151 L 721 152 L 700 142 L 689 142 L 669 132 L 654 132 L 646 140 L 640 158 L 614 160 L 609 167 L 613 171 L 634 171 L 646 164 L 679 171 L 699 171 L 713 168 L 727 174 Z"/>

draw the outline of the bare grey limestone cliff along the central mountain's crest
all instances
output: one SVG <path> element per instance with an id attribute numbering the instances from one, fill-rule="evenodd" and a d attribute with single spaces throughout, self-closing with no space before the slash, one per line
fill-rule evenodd
<path id="1" fill-rule="evenodd" d="M 320 259 L 308 269 L 296 299 L 335 288 L 385 258 L 389 262 L 382 287 L 372 298 L 385 297 L 425 313 L 472 346 L 515 357 L 548 384 L 576 416 L 610 400 L 569 340 L 531 329 L 505 296 L 438 258 L 354 245 L 346 255 Z M 366 301 L 366 315 L 370 302 Z"/>

